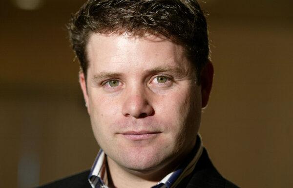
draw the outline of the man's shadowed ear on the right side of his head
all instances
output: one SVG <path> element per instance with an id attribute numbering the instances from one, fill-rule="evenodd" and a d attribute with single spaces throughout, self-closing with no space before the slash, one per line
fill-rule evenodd
<path id="1" fill-rule="evenodd" d="M 209 94 L 213 79 L 213 66 L 211 61 L 204 67 L 201 72 L 201 94 L 202 94 L 202 108 L 205 108 L 209 102 Z"/>

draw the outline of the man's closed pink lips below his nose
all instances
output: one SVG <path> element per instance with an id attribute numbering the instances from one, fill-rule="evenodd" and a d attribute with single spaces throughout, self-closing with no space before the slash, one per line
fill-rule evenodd
<path id="1" fill-rule="evenodd" d="M 152 131 L 127 131 L 122 133 L 121 135 L 128 140 L 132 141 L 140 141 L 152 139 L 158 136 L 161 132 L 152 132 Z"/>

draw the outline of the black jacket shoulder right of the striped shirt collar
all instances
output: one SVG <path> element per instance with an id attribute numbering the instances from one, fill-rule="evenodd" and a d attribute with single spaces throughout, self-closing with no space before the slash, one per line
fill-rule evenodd
<path id="1" fill-rule="evenodd" d="M 225 179 L 211 163 L 206 149 L 193 172 L 182 181 L 179 188 L 238 188 Z"/>

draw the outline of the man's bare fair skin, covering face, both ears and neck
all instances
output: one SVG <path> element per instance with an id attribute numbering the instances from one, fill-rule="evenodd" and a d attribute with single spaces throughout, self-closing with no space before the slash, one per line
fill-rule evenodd
<path id="1" fill-rule="evenodd" d="M 195 145 L 213 68 L 202 84 L 182 46 L 162 36 L 92 34 L 80 84 L 113 186 L 151 187 Z M 119 185 L 119 186 L 117 186 Z"/>

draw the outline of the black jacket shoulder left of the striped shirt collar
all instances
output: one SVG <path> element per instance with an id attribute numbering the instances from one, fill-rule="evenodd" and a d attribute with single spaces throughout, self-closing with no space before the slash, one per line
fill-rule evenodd
<path id="1" fill-rule="evenodd" d="M 39 188 L 91 188 L 87 178 L 89 170 L 43 185 Z"/>

